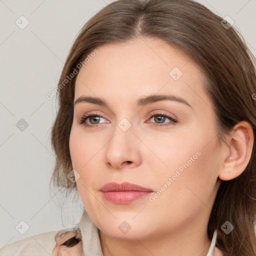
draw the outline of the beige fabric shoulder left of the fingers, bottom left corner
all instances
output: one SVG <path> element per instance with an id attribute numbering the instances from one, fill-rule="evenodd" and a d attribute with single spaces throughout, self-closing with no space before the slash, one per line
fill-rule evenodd
<path id="1" fill-rule="evenodd" d="M 55 246 L 55 235 L 58 231 L 50 231 L 31 235 L 27 238 L 12 242 L 0 249 L 0 256 L 29 256 L 29 255 L 52 255 Z"/>

